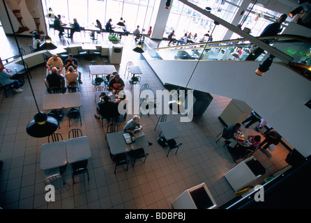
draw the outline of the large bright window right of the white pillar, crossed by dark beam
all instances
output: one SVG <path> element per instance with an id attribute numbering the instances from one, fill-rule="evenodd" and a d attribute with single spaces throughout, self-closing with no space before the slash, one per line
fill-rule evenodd
<path id="1" fill-rule="evenodd" d="M 211 13 L 216 15 L 222 20 L 232 22 L 240 0 L 221 1 L 221 0 L 192 0 L 191 3 L 205 8 L 210 6 Z M 197 36 L 202 37 L 205 33 L 213 31 L 213 40 L 222 40 L 227 28 L 224 26 L 215 26 L 213 20 L 209 19 L 201 13 L 192 8 L 185 6 L 180 1 L 174 1 L 172 4 L 171 13 L 165 29 L 164 37 L 167 37 L 172 30 L 175 31 L 177 38 L 183 36 L 185 33 L 197 33 Z"/>

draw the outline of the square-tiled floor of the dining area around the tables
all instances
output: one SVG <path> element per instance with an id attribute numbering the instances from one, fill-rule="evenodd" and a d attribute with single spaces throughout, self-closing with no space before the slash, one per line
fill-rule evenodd
<path id="1" fill-rule="evenodd" d="M 0 29 L 1 40 L 8 41 L 6 50 L 16 54 L 13 38 L 6 38 Z M 52 32 L 53 33 L 53 32 Z M 87 35 L 87 34 L 86 34 Z M 87 37 L 87 36 L 86 36 Z M 30 38 L 19 38 L 21 46 L 29 51 Z M 59 42 L 53 37 L 52 40 Z M 74 39 L 75 40 L 75 39 Z M 100 39 L 101 40 L 101 39 Z M 98 40 L 98 41 L 100 41 Z M 131 36 L 123 38 L 123 56 L 120 66 L 116 66 L 121 77 L 125 72 L 126 63 L 133 61 L 144 73 L 141 83 L 148 83 L 151 88 L 164 89 L 151 68 L 139 54 L 132 52 L 135 46 Z M 3 46 L 2 45 L 2 46 Z M 10 54 L 10 53 L 8 53 Z M 4 57 L 1 55 L 1 57 Z M 96 58 L 98 63 L 102 63 Z M 137 161 L 135 167 L 124 171 L 118 167 L 114 175 L 114 164 L 109 156 L 104 129 L 100 121 L 93 117 L 96 111 L 94 103 L 94 87 L 89 77 L 90 61 L 81 59 L 79 62 L 82 71 L 82 126 L 75 121 L 73 127 L 81 128 L 84 135 L 89 137 L 91 159 L 88 169 L 90 180 L 86 175 L 75 178 L 73 185 L 71 168 L 67 167 L 63 174 L 66 185 L 60 187 L 56 182 L 56 201 L 45 201 L 45 178 L 40 169 L 40 146 L 47 143 L 45 138 L 33 138 L 26 134 L 26 125 L 36 114 L 29 84 L 22 89 L 23 93 L 15 93 L 9 98 L 0 96 L 0 160 L 3 168 L 0 173 L 0 207 L 1 208 L 172 208 L 172 201 L 184 190 L 206 183 L 218 206 L 234 199 L 236 194 L 224 175 L 234 167 L 235 163 L 222 141 L 215 144 L 216 135 L 223 125 L 218 116 L 230 102 L 230 98 L 213 95 L 214 100 L 202 116 L 195 116 L 190 123 L 181 123 L 179 115 L 169 115 L 181 137 L 176 139 L 183 143 L 179 152 L 173 152 L 166 157 L 167 151 L 158 145 L 156 139 L 159 129 L 154 130 L 158 117 L 155 115 L 142 116 L 144 131 L 152 146 L 145 148 L 149 153 L 146 163 Z M 31 70 L 31 84 L 33 85 L 38 106 L 43 107 L 43 95 L 46 92 L 43 80 L 45 66 Z M 126 82 L 126 89 L 129 84 Z M 46 111 L 45 111 L 46 112 Z M 64 110 L 66 112 L 66 110 Z M 128 120 L 130 115 L 128 116 Z M 242 127 L 243 128 L 243 127 Z M 61 129 L 57 132 L 68 139 L 68 121 L 64 117 Z M 249 131 L 252 131 L 249 129 Z M 289 151 L 283 146 L 277 146 L 271 155 L 257 151 L 254 155 L 267 169 L 257 183 L 263 183 L 264 178 L 287 166 L 285 157 Z M 257 184 L 255 183 L 255 184 Z"/>

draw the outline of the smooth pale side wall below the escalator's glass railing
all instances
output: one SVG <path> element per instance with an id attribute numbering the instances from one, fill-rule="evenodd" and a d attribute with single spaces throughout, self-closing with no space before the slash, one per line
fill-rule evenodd
<path id="1" fill-rule="evenodd" d="M 185 86 L 197 61 L 148 61 L 161 81 Z M 245 101 L 280 132 L 303 156 L 311 155 L 311 82 L 285 66 L 273 63 L 260 77 L 258 61 L 200 61 L 191 89 Z"/>

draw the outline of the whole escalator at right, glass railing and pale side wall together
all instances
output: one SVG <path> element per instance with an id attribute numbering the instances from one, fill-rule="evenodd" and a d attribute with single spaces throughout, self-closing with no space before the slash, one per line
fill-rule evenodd
<path id="1" fill-rule="evenodd" d="M 290 62 L 276 56 L 264 75 L 257 75 L 270 54 L 245 61 L 255 46 L 243 38 L 172 47 L 144 43 L 142 55 L 163 84 L 246 102 L 308 157 L 311 110 L 305 104 L 311 99 L 311 40 L 294 35 L 259 39 L 271 39 L 272 47 L 291 56 Z"/>

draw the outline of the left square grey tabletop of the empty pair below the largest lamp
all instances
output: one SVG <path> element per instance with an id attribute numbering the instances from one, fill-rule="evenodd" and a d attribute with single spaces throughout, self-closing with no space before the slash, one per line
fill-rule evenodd
<path id="1" fill-rule="evenodd" d="M 41 145 L 40 169 L 62 167 L 66 163 L 66 141 L 56 141 Z"/>

